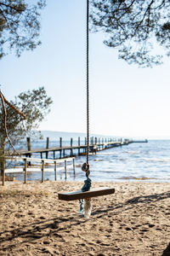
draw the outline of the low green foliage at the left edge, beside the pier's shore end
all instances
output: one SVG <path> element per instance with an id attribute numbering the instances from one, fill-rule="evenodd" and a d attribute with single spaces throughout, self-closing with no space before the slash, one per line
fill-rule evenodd
<path id="1" fill-rule="evenodd" d="M 49 113 L 52 100 L 47 96 L 46 90 L 43 87 L 39 87 L 37 90 L 28 90 L 20 93 L 19 96 L 15 96 L 14 102 L 11 101 L 10 103 L 26 114 L 26 120 L 24 120 L 14 109 L 5 105 L 8 136 L 15 144 L 24 137 L 30 136 L 32 130 L 38 128 L 39 123 Z M 0 104 L 0 106 L 2 105 Z M 0 113 L 0 122 L 2 124 L 0 126 L 0 137 L 5 137 L 3 109 Z"/>

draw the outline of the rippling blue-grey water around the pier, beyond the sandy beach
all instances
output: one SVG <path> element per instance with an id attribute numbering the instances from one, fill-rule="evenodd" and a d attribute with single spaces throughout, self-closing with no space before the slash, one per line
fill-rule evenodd
<path id="1" fill-rule="evenodd" d="M 65 141 L 67 145 L 70 142 Z M 77 144 L 77 142 L 74 142 Z M 82 144 L 84 142 L 81 142 Z M 54 141 L 50 147 L 57 147 Z M 32 148 L 45 148 L 45 142 L 34 142 Z M 66 152 L 65 152 L 66 153 Z M 77 152 L 75 152 L 77 153 Z M 70 151 L 66 153 L 68 156 Z M 35 154 L 32 157 L 39 157 Z M 53 159 L 53 154 L 48 158 Z M 75 159 L 76 172 L 67 170 L 68 181 L 83 181 L 85 173 L 82 164 L 86 156 Z M 94 182 L 170 182 L 170 140 L 149 140 L 148 143 L 130 143 L 122 147 L 110 148 L 89 155 L 90 178 Z M 11 172 L 16 180 L 23 180 L 23 172 Z M 28 172 L 27 180 L 41 180 L 41 172 Z M 54 171 L 45 172 L 45 180 L 54 180 Z M 59 168 L 57 180 L 65 180 L 65 169 Z"/>

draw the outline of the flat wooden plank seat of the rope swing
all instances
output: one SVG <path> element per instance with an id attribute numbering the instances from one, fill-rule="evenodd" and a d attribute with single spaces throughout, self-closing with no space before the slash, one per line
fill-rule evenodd
<path id="1" fill-rule="evenodd" d="M 82 192 L 82 190 L 71 191 L 67 193 L 60 192 L 58 196 L 59 196 L 59 200 L 74 201 L 74 200 L 102 196 L 102 195 L 111 195 L 114 193 L 115 193 L 115 189 L 108 188 L 108 187 L 99 187 L 95 189 L 90 189 L 89 191 L 85 191 L 85 192 Z"/>

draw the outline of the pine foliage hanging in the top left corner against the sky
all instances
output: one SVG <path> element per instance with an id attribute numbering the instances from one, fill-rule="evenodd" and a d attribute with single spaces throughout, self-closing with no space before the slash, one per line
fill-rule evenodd
<path id="1" fill-rule="evenodd" d="M 40 31 L 40 10 L 45 0 L 31 5 L 25 0 L 0 1 L 0 59 L 14 50 L 20 56 L 23 50 L 32 50 L 41 44 L 38 40 Z"/>

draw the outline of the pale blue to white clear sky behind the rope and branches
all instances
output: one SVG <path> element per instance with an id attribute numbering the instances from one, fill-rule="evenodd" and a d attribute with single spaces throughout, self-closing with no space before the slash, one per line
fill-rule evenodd
<path id="1" fill-rule="evenodd" d="M 170 59 L 153 68 L 129 66 L 90 34 L 90 132 L 170 137 Z M 42 45 L 0 61 L 1 90 L 14 99 L 44 86 L 54 103 L 41 130 L 86 132 L 86 0 L 47 0 Z"/>

